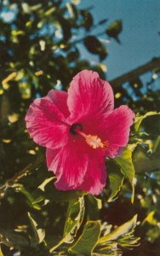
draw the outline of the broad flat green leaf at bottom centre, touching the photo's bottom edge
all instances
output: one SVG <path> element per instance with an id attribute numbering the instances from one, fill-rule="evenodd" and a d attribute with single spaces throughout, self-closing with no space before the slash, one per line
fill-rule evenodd
<path id="1" fill-rule="evenodd" d="M 77 255 L 92 255 L 94 247 L 100 237 L 100 222 L 88 221 L 83 229 L 83 234 L 77 242 L 69 248 L 71 253 Z"/>

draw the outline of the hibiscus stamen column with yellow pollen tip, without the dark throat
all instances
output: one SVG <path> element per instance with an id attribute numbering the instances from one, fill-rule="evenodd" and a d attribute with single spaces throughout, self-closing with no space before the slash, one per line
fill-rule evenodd
<path id="1" fill-rule="evenodd" d="M 83 131 L 77 131 L 77 133 L 85 138 L 86 143 L 88 143 L 91 148 L 102 148 L 106 150 L 109 147 L 109 142 L 102 142 L 100 137 L 98 137 L 97 135 L 86 135 L 85 133 L 83 133 Z"/>

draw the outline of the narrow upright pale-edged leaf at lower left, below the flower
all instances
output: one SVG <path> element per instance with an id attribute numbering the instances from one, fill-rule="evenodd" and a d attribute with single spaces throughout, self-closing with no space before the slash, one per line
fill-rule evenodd
<path id="1" fill-rule="evenodd" d="M 45 237 L 45 230 L 37 228 L 37 222 L 31 217 L 30 212 L 28 212 L 28 218 L 30 219 L 37 243 L 41 243 Z"/>

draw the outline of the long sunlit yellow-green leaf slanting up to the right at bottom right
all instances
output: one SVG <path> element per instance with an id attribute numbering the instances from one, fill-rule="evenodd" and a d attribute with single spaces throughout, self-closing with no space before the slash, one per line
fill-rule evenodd
<path id="1" fill-rule="evenodd" d="M 119 226 L 116 230 L 112 231 L 109 235 L 100 237 L 97 244 L 106 243 L 108 241 L 117 241 L 123 236 L 129 235 L 130 232 L 134 232 L 134 228 L 137 222 L 137 214 L 134 215 L 134 218 L 131 218 L 125 224 Z"/>

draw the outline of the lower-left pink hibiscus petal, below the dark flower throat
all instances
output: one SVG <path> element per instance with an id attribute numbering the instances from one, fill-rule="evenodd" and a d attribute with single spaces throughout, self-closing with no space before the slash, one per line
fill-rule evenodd
<path id="1" fill-rule="evenodd" d="M 83 183 L 89 157 L 80 143 L 70 141 L 64 148 L 47 148 L 46 159 L 49 170 L 57 177 L 54 183 L 57 189 L 75 190 Z"/>

